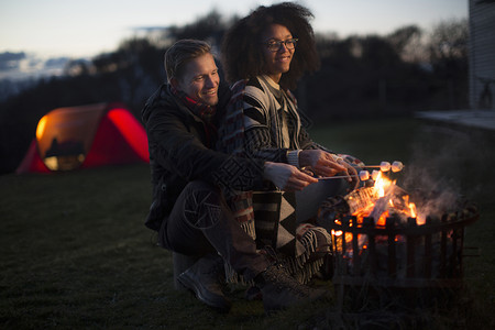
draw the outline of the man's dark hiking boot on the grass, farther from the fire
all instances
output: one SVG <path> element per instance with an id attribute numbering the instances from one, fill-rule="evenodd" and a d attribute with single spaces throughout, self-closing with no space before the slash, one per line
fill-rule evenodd
<path id="1" fill-rule="evenodd" d="M 232 304 L 222 293 L 223 272 L 223 260 L 219 255 L 204 256 L 182 273 L 177 279 L 206 305 L 228 312 Z"/>

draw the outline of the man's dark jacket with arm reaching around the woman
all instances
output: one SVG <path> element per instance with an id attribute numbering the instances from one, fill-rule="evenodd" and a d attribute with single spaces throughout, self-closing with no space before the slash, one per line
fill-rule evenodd
<path id="1" fill-rule="evenodd" d="M 230 99 L 228 87 L 219 88 L 213 124 L 218 125 Z M 263 187 L 263 161 L 233 157 L 213 150 L 216 134 L 164 84 L 142 110 L 146 128 L 153 201 L 146 227 L 160 230 L 177 197 L 189 182 L 205 180 L 222 189 L 252 190 Z"/>

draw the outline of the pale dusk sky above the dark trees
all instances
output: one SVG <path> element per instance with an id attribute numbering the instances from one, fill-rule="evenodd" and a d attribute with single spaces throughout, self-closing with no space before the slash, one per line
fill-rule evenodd
<path id="1" fill-rule="evenodd" d="M 37 56 L 94 56 L 114 51 L 136 28 L 182 25 L 211 10 L 244 15 L 258 4 L 238 0 L 0 0 L 0 53 Z M 468 16 L 468 0 L 306 0 L 317 32 L 386 34 L 417 24 Z"/>

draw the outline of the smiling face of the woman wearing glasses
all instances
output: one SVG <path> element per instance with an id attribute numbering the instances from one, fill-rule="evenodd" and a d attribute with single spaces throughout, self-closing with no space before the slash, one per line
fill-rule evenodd
<path id="1" fill-rule="evenodd" d="M 262 34 L 262 43 L 279 42 L 293 38 L 290 31 L 280 24 L 271 24 Z M 263 47 L 263 57 L 265 59 L 266 75 L 275 82 L 280 80 L 282 74 L 287 73 L 290 68 L 295 50 L 287 50 L 285 44 L 273 52 L 266 45 Z"/>

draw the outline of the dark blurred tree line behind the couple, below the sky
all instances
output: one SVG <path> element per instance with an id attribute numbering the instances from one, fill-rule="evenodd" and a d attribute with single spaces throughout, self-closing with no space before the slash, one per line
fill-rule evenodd
<path id="1" fill-rule="evenodd" d="M 0 103 L 0 174 L 15 169 L 37 121 L 55 108 L 121 101 L 140 119 L 146 99 L 166 80 L 167 47 L 188 37 L 219 50 L 237 19 L 212 11 L 190 24 L 125 40 L 114 52 L 73 61 L 63 77 L 41 79 L 8 98 Z M 466 109 L 468 36 L 466 20 L 443 21 L 429 32 L 408 25 L 387 35 L 317 34 L 320 69 L 293 92 L 312 122 Z"/>

